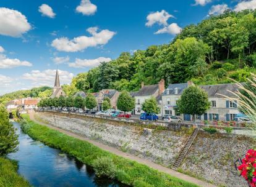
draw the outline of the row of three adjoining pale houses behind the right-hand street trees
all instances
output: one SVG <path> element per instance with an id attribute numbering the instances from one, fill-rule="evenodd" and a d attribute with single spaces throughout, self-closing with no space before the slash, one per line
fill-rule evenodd
<path id="1" fill-rule="evenodd" d="M 144 86 L 142 83 L 141 89 L 132 95 L 135 98 L 135 114 L 141 114 L 142 103 L 150 97 L 155 97 L 158 101 L 158 105 L 161 108 L 160 116 L 173 115 L 181 116 L 182 119 L 190 121 L 192 116 L 189 114 L 179 114 L 176 109 L 176 102 L 181 97 L 184 89 L 192 86 L 192 81 L 187 81 L 182 84 L 169 84 L 164 89 L 164 80 L 162 79 L 156 85 Z M 231 92 L 235 92 L 238 89 L 237 84 L 217 84 L 200 86 L 201 89 L 205 90 L 208 94 L 208 99 L 211 102 L 211 108 L 208 109 L 207 113 L 202 116 L 197 116 L 198 120 L 221 120 L 221 121 L 234 121 L 236 114 L 239 113 L 236 103 L 227 100 L 221 95 L 233 97 Z M 229 91 L 228 91 L 229 90 Z"/>

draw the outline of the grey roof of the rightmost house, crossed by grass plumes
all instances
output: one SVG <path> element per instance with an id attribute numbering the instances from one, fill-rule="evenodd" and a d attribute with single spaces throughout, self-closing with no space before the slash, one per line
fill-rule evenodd
<path id="1" fill-rule="evenodd" d="M 238 89 L 237 84 L 216 84 L 216 85 L 206 85 L 206 86 L 200 86 L 200 87 L 208 93 L 208 97 L 223 97 L 221 95 L 234 97 L 234 95 L 231 94 L 229 91 L 236 92 Z M 221 94 L 221 95 L 218 95 L 218 94 Z"/>

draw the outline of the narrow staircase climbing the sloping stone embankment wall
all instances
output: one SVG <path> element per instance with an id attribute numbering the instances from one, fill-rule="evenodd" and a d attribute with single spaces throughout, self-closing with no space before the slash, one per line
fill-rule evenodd
<path id="1" fill-rule="evenodd" d="M 173 164 L 173 169 L 176 170 L 179 165 L 181 165 L 181 162 L 183 161 L 184 157 L 186 156 L 187 152 L 190 149 L 190 146 L 192 145 L 193 141 L 195 140 L 195 137 L 197 137 L 198 129 L 195 128 L 192 135 L 190 135 L 189 139 L 187 139 L 186 145 L 181 149 L 179 152 L 179 156 L 177 157 L 176 161 Z"/>

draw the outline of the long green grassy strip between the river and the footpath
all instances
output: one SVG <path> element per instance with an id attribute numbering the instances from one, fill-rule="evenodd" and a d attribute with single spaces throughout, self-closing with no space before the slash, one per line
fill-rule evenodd
<path id="1" fill-rule="evenodd" d="M 77 157 L 94 169 L 103 171 L 108 177 L 115 178 L 124 184 L 137 187 L 151 186 L 176 186 L 176 187 L 194 187 L 192 183 L 171 177 L 165 173 L 158 172 L 146 165 L 130 161 L 123 157 L 116 156 L 108 151 L 104 151 L 87 141 L 69 137 L 57 130 L 49 129 L 46 126 L 37 124 L 29 119 L 27 114 L 23 115 L 25 122 L 22 122 L 22 130 L 28 133 L 35 140 L 40 140 L 48 146 L 61 149 L 62 151 Z M 108 159 L 104 159 L 108 158 Z M 108 162 L 108 163 L 102 163 Z M 98 163 L 98 164 L 97 164 Z M 101 163 L 101 164 L 99 164 Z M 110 164 L 110 167 L 108 165 Z M 101 165 L 101 168 L 96 168 Z M 102 167 L 106 165 L 106 167 Z M 102 172 L 101 172 L 102 174 Z"/>

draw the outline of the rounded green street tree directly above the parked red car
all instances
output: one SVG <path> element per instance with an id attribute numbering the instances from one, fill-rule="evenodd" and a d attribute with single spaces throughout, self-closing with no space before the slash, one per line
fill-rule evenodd
<path id="1" fill-rule="evenodd" d="M 135 108 L 135 98 L 129 92 L 122 92 L 117 98 L 117 109 L 124 111 L 124 113 L 132 111 Z"/>

